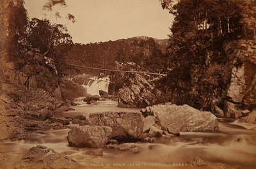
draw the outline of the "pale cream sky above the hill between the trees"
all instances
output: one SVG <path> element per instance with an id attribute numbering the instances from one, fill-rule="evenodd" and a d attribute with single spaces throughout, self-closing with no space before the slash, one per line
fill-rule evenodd
<path id="1" fill-rule="evenodd" d="M 74 43 L 118 40 L 134 36 L 166 39 L 173 17 L 161 8 L 158 0 L 66 0 L 67 7 L 43 11 L 47 0 L 25 0 L 30 18 L 52 18 L 60 11 L 61 19 Z M 44 15 L 46 13 L 46 15 Z M 65 17 L 71 13 L 76 22 Z M 52 19 L 55 22 L 55 19 Z"/>

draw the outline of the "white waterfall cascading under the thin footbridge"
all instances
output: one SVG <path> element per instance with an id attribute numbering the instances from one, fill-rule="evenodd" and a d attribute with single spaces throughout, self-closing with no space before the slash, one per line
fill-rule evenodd
<path id="1" fill-rule="evenodd" d="M 109 77 L 91 77 L 88 84 L 83 84 L 88 94 L 99 95 L 99 91 L 108 92 L 110 78 Z"/>

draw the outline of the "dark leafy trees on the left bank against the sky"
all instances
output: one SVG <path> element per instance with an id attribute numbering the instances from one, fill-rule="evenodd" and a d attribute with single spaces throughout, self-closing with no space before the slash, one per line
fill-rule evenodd
<path id="1" fill-rule="evenodd" d="M 23 73 L 27 80 L 37 82 L 37 87 L 45 91 L 56 89 L 60 83 L 64 56 L 70 50 L 72 37 L 67 27 L 54 24 L 47 19 L 32 18 L 29 20 L 22 0 L 10 1 L 9 61 L 14 63 L 19 76 Z M 56 13 L 56 17 L 60 17 Z M 74 16 L 70 15 L 70 19 Z"/>

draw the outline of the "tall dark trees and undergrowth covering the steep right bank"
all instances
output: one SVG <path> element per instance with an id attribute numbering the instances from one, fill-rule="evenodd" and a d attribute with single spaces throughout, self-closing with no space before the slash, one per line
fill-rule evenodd
<path id="1" fill-rule="evenodd" d="M 173 103 L 212 110 L 218 102 L 223 108 L 232 68 L 243 64 L 239 55 L 227 55 L 225 45 L 253 39 L 255 1 L 161 0 L 161 4 L 175 21 L 168 50 L 173 71 L 161 81 L 160 89 L 168 91 Z"/>

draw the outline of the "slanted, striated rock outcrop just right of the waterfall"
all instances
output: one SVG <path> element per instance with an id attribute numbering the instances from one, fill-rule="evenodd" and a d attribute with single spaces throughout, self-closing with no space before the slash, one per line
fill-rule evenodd
<path id="1" fill-rule="evenodd" d="M 118 70 L 138 71 L 140 66 L 133 62 L 118 63 Z M 154 83 L 150 82 L 147 75 L 139 73 L 118 72 L 111 75 L 109 91 L 115 91 L 118 95 L 119 107 L 147 107 L 156 103 L 160 103 L 159 98 L 161 92 L 154 87 Z M 113 89 L 111 89 L 113 88 Z"/>

